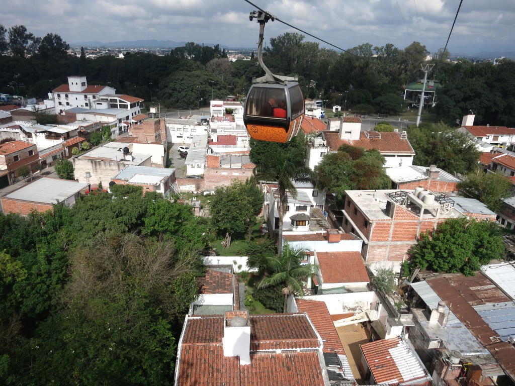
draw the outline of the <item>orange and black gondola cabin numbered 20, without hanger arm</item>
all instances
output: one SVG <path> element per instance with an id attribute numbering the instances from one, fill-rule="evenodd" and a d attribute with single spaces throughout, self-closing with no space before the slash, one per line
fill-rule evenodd
<path id="1" fill-rule="evenodd" d="M 286 143 L 299 132 L 303 117 L 304 97 L 297 82 L 250 87 L 243 121 L 252 138 Z"/>

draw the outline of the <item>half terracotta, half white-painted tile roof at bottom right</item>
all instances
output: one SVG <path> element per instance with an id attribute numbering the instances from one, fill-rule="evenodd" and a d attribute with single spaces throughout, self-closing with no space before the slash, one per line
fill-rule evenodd
<path id="1" fill-rule="evenodd" d="M 360 346 L 376 384 L 403 383 L 426 376 L 416 354 L 400 338 L 381 339 Z"/>

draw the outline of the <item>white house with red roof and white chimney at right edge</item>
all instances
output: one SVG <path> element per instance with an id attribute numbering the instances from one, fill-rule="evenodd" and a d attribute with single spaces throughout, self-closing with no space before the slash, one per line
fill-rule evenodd
<path id="1" fill-rule="evenodd" d="M 465 115 L 458 131 L 474 138 L 480 151 L 489 152 L 492 146 L 506 148 L 515 143 L 515 128 L 493 125 L 474 126 L 474 118 L 473 114 Z"/>

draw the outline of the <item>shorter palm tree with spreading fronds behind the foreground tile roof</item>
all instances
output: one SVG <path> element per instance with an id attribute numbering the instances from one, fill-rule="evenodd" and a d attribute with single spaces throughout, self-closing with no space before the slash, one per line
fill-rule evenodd
<path id="1" fill-rule="evenodd" d="M 302 248 L 292 248 L 286 241 L 280 256 L 267 257 L 268 266 L 273 271 L 273 274 L 264 277 L 258 288 L 277 285 L 284 286 L 282 293 L 284 295 L 283 312 L 285 313 L 288 295 L 290 293 L 304 295 L 302 279 L 313 277 L 318 271 L 316 264 L 300 264 L 306 252 L 307 250 Z"/>

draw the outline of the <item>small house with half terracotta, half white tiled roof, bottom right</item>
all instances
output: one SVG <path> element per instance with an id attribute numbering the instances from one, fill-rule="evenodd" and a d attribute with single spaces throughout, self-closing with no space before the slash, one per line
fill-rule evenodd
<path id="1" fill-rule="evenodd" d="M 369 384 L 433 384 L 431 376 L 407 340 L 381 339 L 359 345 L 363 353 L 362 374 Z"/>

